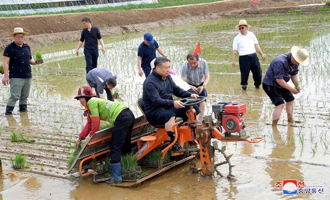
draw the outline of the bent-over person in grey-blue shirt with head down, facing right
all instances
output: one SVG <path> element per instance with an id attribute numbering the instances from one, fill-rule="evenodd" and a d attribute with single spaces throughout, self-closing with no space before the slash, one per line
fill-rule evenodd
<path id="1" fill-rule="evenodd" d="M 95 88 L 96 96 L 105 99 L 103 91 L 107 93 L 107 99 L 115 101 L 114 93 L 117 85 L 117 76 L 108 69 L 95 68 L 88 72 L 86 80 L 91 88 Z"/>

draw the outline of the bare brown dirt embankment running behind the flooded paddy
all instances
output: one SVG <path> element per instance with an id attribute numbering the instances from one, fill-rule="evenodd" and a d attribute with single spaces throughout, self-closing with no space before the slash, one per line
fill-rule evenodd
<path id="1" fill-rule="evenodd" d="M 258 9 L 251 9 L 252 0 L 224 0 L 198 5 L 173 6 L 158 9 L 77 13 L 62 15 L 37 15 L 0 18 L 0 47 L 12 42 L 8 36 L 15 27 L 30 32 L 30 46 L 52 42 L 78 41 L 82 31 L 81 19 L 91 18 L 92 24 L 100 28 L 103 36 L 159 29 L 216 19 L 228 15 L 287 13 L 298 9 L 298 5 L 321 3 L 321 0 L 260 0 Z M 321 6 L 322 7 L 322 6 Z M 302 12 L 316 12 L 320 6 L 299 7 Z"/>

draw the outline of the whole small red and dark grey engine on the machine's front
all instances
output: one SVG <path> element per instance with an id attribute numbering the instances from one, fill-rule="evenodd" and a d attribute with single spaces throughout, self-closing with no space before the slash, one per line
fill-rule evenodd
<path id="1" fill-rule="evenodd" d="M 231 103 L 230 101 L 219 102 L 212 105 L 212 111 L 220 131 L 222 132 L 221 127 L 225 129 L 225 136 L 241 132 L 245 127 L 242 116 L 247 112 L 246 104 Z"/>

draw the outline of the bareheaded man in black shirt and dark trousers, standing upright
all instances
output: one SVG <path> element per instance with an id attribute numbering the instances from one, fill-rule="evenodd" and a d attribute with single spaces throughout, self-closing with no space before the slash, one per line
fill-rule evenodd
<path id="1" fill-rule="evenodd" d="M 102 46 L 102 53 L 105 53 L 105 47 L 103 43 L 103 39 L 101 37 L 101 33 L 99 28 L 96 26 L 92 26 L 91 20 L 88 17 L 82 19 L 82 25 L 84 29 L 82 30 L 82 35 L 80 37 L 80 41 L 77 46 L 76 55 L 79 56 L 79 49 L 82 46 L 83 41 L 85 41 L 85 45 L 83 47 L 83 54 L 85 55 L 86 60 L 86 75 L 89 71 L 98 66 L 98 58 L 99 58 L 99 43 Z"/>

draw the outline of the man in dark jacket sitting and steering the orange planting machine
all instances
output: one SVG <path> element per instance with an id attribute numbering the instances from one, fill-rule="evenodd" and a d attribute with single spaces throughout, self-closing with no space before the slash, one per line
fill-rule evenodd
<path id="1" fill-rule="evenodd" d="M 172 132 L 172 126 L 175 125 L 175 117 L 181 117 L 187 121 L 185 112 L 189 107 L 182 106 L 181 101 L 174 101 L 172 94 L 181 98 L 192 97 L 197 99 L 198 95 L 182 90 L 177 86 L 171 76 L 170 62 L 165 57 L 158 57 L 154 62 L 155 68 L 143 83 L 143 106 L 148 122 L 152 125 L 164 125 L 169 141 L 172 143 L 175 139 L 175 133 Z M 194 105 L 196 115 L 200 110 Z M 175 143 L 174 151 L 182 151 L 183 148 Z"/>

